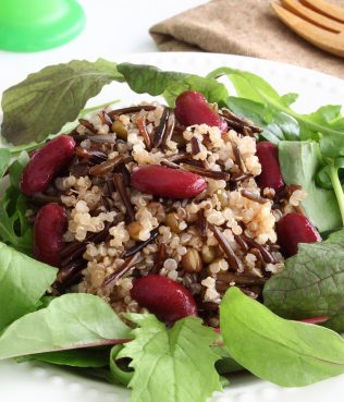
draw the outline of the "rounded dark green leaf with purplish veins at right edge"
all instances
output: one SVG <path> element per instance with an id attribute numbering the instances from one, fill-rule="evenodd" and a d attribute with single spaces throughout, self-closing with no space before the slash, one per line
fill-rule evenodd
<path id="1" fill-rule="evenodd" d="M 286 318 L 332 317 L 343 312 L 344 230 L 320 243 L 299 244 L 284 270 L 266 282 L 263 300 Z"/>

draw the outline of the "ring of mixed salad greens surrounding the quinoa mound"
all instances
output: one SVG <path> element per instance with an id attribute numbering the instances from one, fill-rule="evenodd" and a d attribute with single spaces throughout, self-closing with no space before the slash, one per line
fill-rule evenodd
<path id="1" fill-rule="evenodd" d="M 230 94 L 223 80 L 234 86 Z M 173 106 L 187 89 L 250 119 L 279 146 L 284 182 L 308 194 L 303 207 L 323 240 L 300 244 L 265 284 L 263 304 L 231 288 L 220 331 L 186 317 L 167 327 L 151 314 L 121 319 L 100 297 L 47 296 L 57 269 L 32 258 L 33 228 L 20 191 L 28 153 L 65 122 L 87 113 L 88 99 L 116 81 Z M 120 94 L 116 94 L 119 97 Z M 328 105 L 299 114 L 297 94 L 219 68 L 207 76 L 155 66 L 71 61 L 45 68 L 2 96 L 0 148 L 0 360 L 44 361 L 131 388 L 131 401 L 201 402 L 247 369 L 284 387 L 344 374 L 344 115 Z M 73 123 L 71 123 L 73 126 Z M 70 125 L 71 125 L 70 124 Z M 64 127 L 66 130 L 66 127 Z M 297 319 L 325 317 L 312 325 Z"/>

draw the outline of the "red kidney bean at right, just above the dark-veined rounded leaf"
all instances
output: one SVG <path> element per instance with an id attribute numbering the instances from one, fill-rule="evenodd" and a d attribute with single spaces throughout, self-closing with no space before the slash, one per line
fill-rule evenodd
<path id="1" fill-rule="evenodd" d="M 309 220 L 300 214 L 285 215 L 277 223 L 278 242 L 284 257 L 297 254 L 298 243 L 321 242 L 321 236 Z"/>

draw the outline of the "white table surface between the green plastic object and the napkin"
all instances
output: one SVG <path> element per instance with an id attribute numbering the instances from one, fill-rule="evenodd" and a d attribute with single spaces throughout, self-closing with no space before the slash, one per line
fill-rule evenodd
<path id="1" fill-rule="evenodd" d="M 47 51 L 16 53 L 0 50 L 0 94 L 34 71 L 72 59 L 116 60 L 116 54 L 158 51 L 148 34 L 153 24 L 206 3 L 207 0 L 79 0 L 87 16 L 85 29 L 66 45 Z M 29 4 L 28 1 L 23 3 Z M 23 11 L 25 15 L 25 10 Z"/>

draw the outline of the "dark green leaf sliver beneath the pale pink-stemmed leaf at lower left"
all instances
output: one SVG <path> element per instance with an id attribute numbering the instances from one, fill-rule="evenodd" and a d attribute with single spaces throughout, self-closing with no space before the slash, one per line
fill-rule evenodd
<path id="1" fill-rule="evenodd" d="M 71 367 L 106 367 L 109 364 L 109 350 L 103 348 L 72 349 L 17 357 L 17 363 L 39 361 Z"/>

